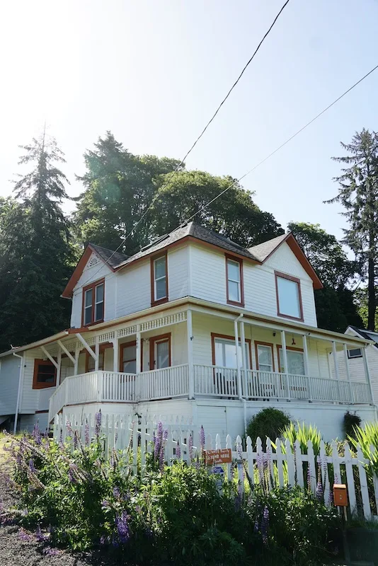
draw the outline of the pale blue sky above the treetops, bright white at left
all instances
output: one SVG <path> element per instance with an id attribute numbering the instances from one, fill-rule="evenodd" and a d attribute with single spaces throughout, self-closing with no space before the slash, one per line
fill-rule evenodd
<path id="1" fill-rule="evenodd" d="M 0 8 L 0 195 L 18 144 L 48 132 L 66 153 L 69 194 L 82 154 L 110 129 L 136 154 L 181 158 L 283 0 L 15 0 Z M 239 177 L 378 63 L 377 0 L 291 0 L 188 168 Z M 345 226 L 332 178 L 340 141 L 377 125 L 378 71 L 248 175 L 257 204 L 287 222 Z M 72 207 L 66 205 L 67 209 Z"/>

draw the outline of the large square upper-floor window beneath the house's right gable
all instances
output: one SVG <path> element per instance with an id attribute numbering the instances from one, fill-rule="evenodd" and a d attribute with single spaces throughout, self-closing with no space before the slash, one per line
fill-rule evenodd
<path id="1" fill-rule="evenodd" d="M 277 315 L 303 320 L 301 282 L 297 277 L 275 272 Z"/>

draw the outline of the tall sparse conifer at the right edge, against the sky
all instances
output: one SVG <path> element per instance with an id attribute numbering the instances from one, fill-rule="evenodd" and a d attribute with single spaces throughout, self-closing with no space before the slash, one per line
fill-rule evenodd
<path id="1" fill-rule="evenodd" d="M 340 202 L 346 212 L 349 228 L 344 230 L 343 242 L 348 244 L 360 261 L 367 276 L 368 316 L 367 328 L 374 330 L 376 296 L 374 281 L 378 255 L 378 134 L 362 129 L 356 132 L 350 144 L 341 143 L 348 151 L 344 157 L 333 161 L 347 163 L 335 180 L 339 184 L 338 195 L 326 202 Z"/>

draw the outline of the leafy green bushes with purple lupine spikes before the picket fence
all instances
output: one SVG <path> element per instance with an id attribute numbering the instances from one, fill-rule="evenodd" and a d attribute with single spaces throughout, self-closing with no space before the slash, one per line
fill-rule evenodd
<path id="1" fill-rule="evenodd" d="M 131 473 L 128 451 L 104 458 L 98 434 L 84 445 L 71 432 L 63 445 L 35 429 L 33 437 L 13 439 L 15 516 L 45 544 L 102 545 L 133 564 L 321 563 L 337 517 L 306 490 L 256 487 L 243 495 L 224 480 L 219 492 L 201 460 L 164 466 L 154 453 L 141 479 Z"/>

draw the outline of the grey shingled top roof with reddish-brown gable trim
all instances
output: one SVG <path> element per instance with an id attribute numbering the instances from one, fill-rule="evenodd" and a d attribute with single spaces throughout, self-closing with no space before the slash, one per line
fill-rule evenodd
<path id="1" fill-rule="evenodd" d="M 307 260 L 292 233 L 283 234 L 282 236 L 278 236 L 277 238 L 273 238 L 272 240 L 261 243 L 258 246 L 253 246 L 253 248 L 249 248 L 247 250 L 246 248 L 243 248 L 243 246 L 239 246 L 238 243 L 229 240 L 229 238 L 226 238 L 225 236 L 192 221 L 171 233 L 164 234 L 164 236 L 156 238 L 156 240 L 149 243 L 148 246 L 144 246 L 142 250 L 134 253 L 134 255 L 130 256 L 130 258 L 128 258 L 127 255 L 113 252 L 107 248 L 96 246 L 93 243 L 88 244 L 79 260 L 79 263 L 76 265 L 76 269 L 74 270 L 71 279 L 69 279 L 62 296 L 67 299 L 72 296 L 72 291 L 74 290 L 76 283 L 79 281 L 81 273 L 86 266 L 86 262 L 88 262 L 88 259 L 91 257 L 92 252 L 96 253 L 96 255 L 103 260 L 105 265 L 108 265 L 110 270 L 118 271 L 133 262 L 141 260 L 142 258 L 147 258 L 149 255 L 153 255 L 154 253 L 159 253 L 159 250 L 164 250 L 165 248 L 168 248 L 168 246 L 172 246 L 184 240 L 201 241 L 207 244 L 207 246 L 221 248 L 233 255 L 239 256 L 241 259 L 245 258 L 254 263 L 265 262 L 283 242 L 286 242 L 297 257 L 297 260 L 301 263 L 302 267 L 304 267 L 304 270 L 306 270 L 309 277 L 311 277 L 314 283 L 314 289 L 321 289 L 323 287 L 319 277 L 311 267 L 309 260 Z"/>

